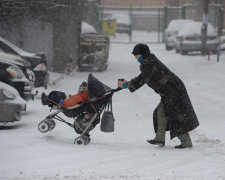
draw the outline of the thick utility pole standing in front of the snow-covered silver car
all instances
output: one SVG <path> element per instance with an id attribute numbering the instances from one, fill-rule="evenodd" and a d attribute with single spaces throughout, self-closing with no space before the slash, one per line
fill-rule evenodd
<path id="1" fill-rule="evenodd" d="M 202 49 L 201 49 L 201 55 L 205 56 L 206 55 L 209 0 L 202 0 L 202 2 L 203 2 L 203 16 L 202 16 Z"/>

